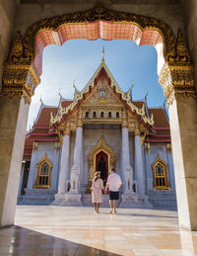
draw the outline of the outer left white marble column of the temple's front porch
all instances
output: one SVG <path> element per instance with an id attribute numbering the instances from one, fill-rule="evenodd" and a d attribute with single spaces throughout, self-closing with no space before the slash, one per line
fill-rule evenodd
<path id="1" fill-rule="evenodd" d="M 66 130 L 63 136 L 58 194 L 67 192 L 67 180 L 69 176 L 69 159 L 70 159 L 70 131 Z"/>

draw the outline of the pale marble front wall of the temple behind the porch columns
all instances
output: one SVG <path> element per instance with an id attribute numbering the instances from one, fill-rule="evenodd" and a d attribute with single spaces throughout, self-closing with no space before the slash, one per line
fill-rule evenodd
<path id="1" fill-rule="evenodd" d="M 70 170 L 74 161 L 74 148 L 75 148 L 75 135 L 76 132 L 71 132 L 70 135 Z M 120 174 L 122 180 L 122 163 L 121 163 L 121 128 L 116 129 L 94 129 L 94 128 L 84 128 L 83 130 L 83 169 L 80 176 L 80 191 L 86 193 L 87 185 L 89 180 L 89 162 L 88 155 L 90 151 L 98 144 L 101 136 L 104 137 L 106 143 L 111 147 L 116 156 L 115 169 L 118 174 Z M 130 162 L 134 170 L 135 179 L 135 168 L 134 168 L 134 134 L 129 132 L 129 150 L 130 150 Z M 165 143 L 152 143 L 150 152 L 147 152 L 142 147 L 143 151 L 143 165 L 144 174 L 146 180 L 146 194 L 150 198 L 150 202 L 160 202 L 162 205 L 175 206 L 175 183 L 173 174 L 173 161 L 172 153 L 169 154 L 166 150 Z M 59 179 L 59 168 L 60 168 L 60 156 L 61 150 L 56 153 L 54 142 L 39 142 L 36 151 L 33 151 L 31 170 L 29 176 L 28 189 L 33 189 L 33 184 L 36 179 L 36 163 L 47 153 L 47 157 L 53 164 L 53 169 L 51 173 L 51 190 L 57 191 L 58 179 Z M 171 186 L 171 191 L 154 191 L 153 190 L 153 171 L 151 165 L 158 158 L 158 155 L 166 162 L 168 165 L 168 179 Z M 70 174 L 69 177 L 70 179 Z M 167 197 L 167 198 L 166 198 Z M 166 198 L 166 202 L 164 201 Z M 168 203 L 167 203 L 168 202 Z M 153 203 L 155 204 L 155 203 Z M 157 205 L 157 204 L 156 204 Z M 160 204 L 159 204 L 160 205 Z"/>

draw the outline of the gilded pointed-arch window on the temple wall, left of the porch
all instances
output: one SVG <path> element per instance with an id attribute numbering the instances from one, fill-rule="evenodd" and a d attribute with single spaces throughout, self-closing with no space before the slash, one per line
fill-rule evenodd
<path id="1" fill-rule="evenodd" d="M 43 169 L 44 164 L 47 166 L 46 170 Z M 47 154 L 45 154 L 44 157 L 36 164 L 37 175 L 33 189 L 50 189 L 52 166 L 53 165 L 48 159 Z"/>

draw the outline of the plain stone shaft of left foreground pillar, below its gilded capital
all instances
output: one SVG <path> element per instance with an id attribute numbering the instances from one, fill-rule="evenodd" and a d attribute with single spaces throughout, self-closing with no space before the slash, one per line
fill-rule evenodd
<path id="1" fill-rule="evenodd" d="M 0 226 L 14 224 L 30 104 L 0 98 Z"/>

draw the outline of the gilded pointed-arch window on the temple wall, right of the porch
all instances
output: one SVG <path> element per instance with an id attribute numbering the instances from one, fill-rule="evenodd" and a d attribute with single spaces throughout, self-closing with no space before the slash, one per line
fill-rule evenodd
<path id="1" fill-rule="evenodd" d="M 167 173 L 168 166 L 160 157 L 160 155 L 158 155 L 157 159 L 153 162 L 151 167 L 153 170 L 154 190 L 170 190 L 171 188 Z"/>

